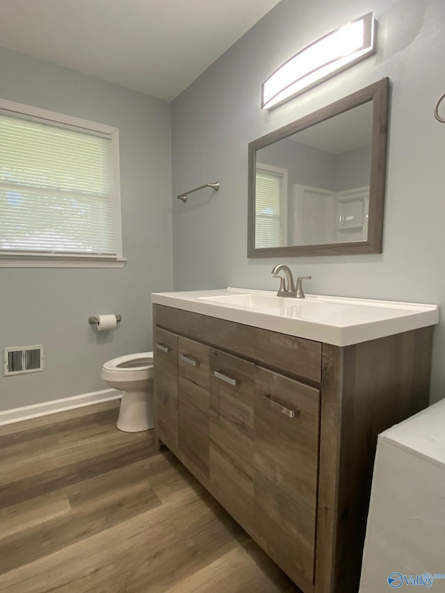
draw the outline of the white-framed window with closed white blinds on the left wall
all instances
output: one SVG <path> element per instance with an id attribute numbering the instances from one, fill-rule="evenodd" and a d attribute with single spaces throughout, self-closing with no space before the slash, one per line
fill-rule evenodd
<path id="1" fill-rule="evenodd" d="M 0 101 L 0 266 L 122 267 L 118 130 Z"/>

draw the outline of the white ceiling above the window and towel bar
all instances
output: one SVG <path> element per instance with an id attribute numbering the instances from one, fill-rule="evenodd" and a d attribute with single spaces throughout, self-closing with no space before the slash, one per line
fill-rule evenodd
<path id="1" fill-rule="evenodd" d="M 168 101 L 280 0 L 1 0 L 0 44 Z"/>

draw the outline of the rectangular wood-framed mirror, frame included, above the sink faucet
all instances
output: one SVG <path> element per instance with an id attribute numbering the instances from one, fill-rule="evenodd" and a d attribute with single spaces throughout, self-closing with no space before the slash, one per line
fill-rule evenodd
<path id="1" fill-rule="evenodd" d="M 389 79 L 249 144 L 248 257 L 381 253 Z"/>

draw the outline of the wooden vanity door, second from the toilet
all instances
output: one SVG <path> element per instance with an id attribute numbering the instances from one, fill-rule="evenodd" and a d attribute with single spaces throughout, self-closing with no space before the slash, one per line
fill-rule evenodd
<path id="1" fill-rule="evenodd" d="M 209 477 L 209 347 L 179 336 L 179 449 Z"/>

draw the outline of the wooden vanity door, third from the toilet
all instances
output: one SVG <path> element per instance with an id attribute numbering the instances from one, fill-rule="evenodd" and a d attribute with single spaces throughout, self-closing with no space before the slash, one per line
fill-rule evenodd
<path id="1" fill-rule="evenodd" d="M 218 501 L 247 529 L 253 516 L 254 364 L 210 351 L 210 477 Z"/>

